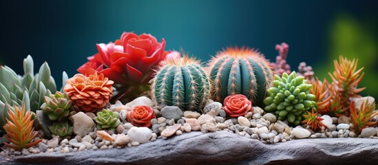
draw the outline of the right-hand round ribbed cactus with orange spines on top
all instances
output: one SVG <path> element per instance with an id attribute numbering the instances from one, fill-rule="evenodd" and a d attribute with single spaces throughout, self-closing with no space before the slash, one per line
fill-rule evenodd
<path id="1" fill-rule="evenodd" d="M 269 62 L 247 47 L 218 52 L 209 62 L 207 72 L 212 80 L 212 99 L 218 102 L 230 95 L 243 94 L 260 106 L 273 79 Z"/>

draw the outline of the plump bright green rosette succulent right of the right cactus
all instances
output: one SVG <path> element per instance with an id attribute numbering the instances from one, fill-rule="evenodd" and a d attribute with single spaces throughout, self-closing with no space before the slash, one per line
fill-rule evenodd
<path id="1" fill-rule="evenodd" d="M 265 111 L 274 112 L 278 120 L 287 118 L 289 123 L 299 125 L 302 115 L 316 104 L 315 96 L 308 92 L 312 85 L 295 72 L 274 78 L 273 87 L 268 89 L 269 96 L 264 99 Z"/>

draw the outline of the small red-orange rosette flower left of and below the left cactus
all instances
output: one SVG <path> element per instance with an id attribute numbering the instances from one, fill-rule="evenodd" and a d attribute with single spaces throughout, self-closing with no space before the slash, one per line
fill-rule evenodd
<path id="1" fill-rule="evenodd" d="M 151 119 L 155 118 L 155 111 L 146 105 L 137 105 L 131 111 L 127 111 L 127 121 L 134 126 L 151 126 Z"/>

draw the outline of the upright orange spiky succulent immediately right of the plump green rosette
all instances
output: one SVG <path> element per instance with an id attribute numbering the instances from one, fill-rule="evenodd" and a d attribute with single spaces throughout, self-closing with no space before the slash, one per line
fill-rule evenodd
<path id="1" fill-rule="evenodd" d="M 311 83 L 313 86 L 310 89 L 310 94 L 315 95 L 315 109 L 322 114 L 328 113 L 330 99 L 332 98 L 332 95 L 329 94 L 330 85 L 328 81 L 324 78 L 323 82 L 320 82 L 318 78 L 315 78 L 315 80 L 311 80 Z"/>

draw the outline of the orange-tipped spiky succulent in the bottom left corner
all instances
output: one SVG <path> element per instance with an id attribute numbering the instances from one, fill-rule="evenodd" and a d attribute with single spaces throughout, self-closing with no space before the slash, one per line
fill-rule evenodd
<path id="1" fill-rule="evenodd" d="M 9 105 L 8 105 L 9 106 Z M 34 137 L 38 135 L 38 131 L 34 131 L 32 113 L 25 107 L 14 106 L 14 112 L 8 111 L 7 123 L 3 126 L 6 131 L 5 137 L 12 143 L 3 142 L 8 148 L 14 148 L 21 151 L 23 148 L 29 148 L 42 141 L 42 139 L 32 142 Z"/>

